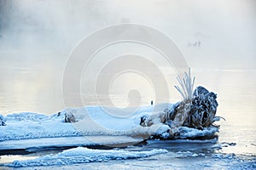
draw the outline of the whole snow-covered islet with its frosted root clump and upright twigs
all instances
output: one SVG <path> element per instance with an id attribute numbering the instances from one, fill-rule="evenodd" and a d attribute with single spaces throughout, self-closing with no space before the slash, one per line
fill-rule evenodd
<path id="1" fill-rule="evenodd" d="M 177 77 L 177 80 L 180 87 L 175 88 L 182 94 L 182 101 L 142 106 L 136 111 L 134 108 L 123 110 L 135 111 L 131 116 L 113 116 L 109 111 L 113 113 L 118 109 L 102 106 L 66 109 L 50 116 L 31 112 L 0 116 L 0 152 L 83 146 L 113 148 L 153 139 L 216 141 L 215 133 L 219 127 L 213 123 L 221 118 L 216 116 L 217 95 L 201 86 L 193 90 L 195 77 L 191 78 L 190 71 L 185 73 L 183 79 Z M 85 150 L 86 153 L 92 151 L 82 148 L 77 150 Z M 166 150 L 153 150 L 143 153 L 143 156 L 164 152 Z M 139 157 L 129 154 L 131 157 Z M 129 154 L 125 153 L 125 156 Z M 46 158 L 42 159 L 44 161 Z M 40 162 L 35 165 L 40 165 Z M 25 164 L 15 161 L 7 166 L 22 167 Z"/>

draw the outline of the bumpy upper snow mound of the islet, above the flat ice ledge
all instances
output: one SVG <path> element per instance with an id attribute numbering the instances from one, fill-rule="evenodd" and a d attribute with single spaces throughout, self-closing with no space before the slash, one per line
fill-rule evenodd
<path id="1" fill-rule="evenodd" d="M 109 115 L 101 106 L 85 106 L 72 109 L 78 117 L 78 122 L 74 123 L 64 122 L 65 114 L 71 109 L 50 116 L 31 112 L 15 113 L 6 116 L 7 126 L 0 127 L 0 149 L 1 141 L 7 140 L 91 135 L 137 136 L 145 133 L 150 135 L 155 133 L 158 127 L 141 127 L 141 115 L 153 110 L 162 111 L 168 107 L 172 105 L 143 106 L 133 116 L 120 118 Z M 127 110 L 129 111 L 129 108 Z M 84 118 L 79 119 L 78 114 Z"/>

